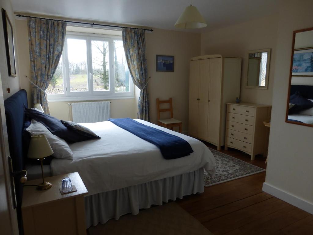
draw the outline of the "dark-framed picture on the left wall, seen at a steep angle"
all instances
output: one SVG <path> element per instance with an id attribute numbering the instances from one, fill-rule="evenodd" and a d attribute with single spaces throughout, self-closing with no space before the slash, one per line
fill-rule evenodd
<path id="1" fill-rule="evenodd" d="M 5 40 L 5 49 L 7 53 L 9 76 L 16 77 L 14 44 L 13 44 L 13 27 L 7 12 L 2 8 L 3 32 Z"/>

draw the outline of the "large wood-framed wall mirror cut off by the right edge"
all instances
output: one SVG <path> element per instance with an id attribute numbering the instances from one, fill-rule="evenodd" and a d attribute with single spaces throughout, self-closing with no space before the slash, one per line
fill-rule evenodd
<path id="1" fill-rule="evenodd" d="M 313 28 L 293 33 L 286 122 L 313 127 Z"/>

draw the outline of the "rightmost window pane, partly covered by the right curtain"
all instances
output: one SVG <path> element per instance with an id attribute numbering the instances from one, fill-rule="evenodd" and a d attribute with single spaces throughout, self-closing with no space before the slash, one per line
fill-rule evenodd
<path id="1" fill-rule="evenodd" d="M 115 92 L 129 92 L 129 70 L 123 41 L 114 40 L 114 81 Z"/>

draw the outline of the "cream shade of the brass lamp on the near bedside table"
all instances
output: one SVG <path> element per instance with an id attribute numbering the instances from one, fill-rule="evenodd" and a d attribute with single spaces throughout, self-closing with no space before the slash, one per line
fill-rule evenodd
<path id="1" fill-rule="evenodd" d="M 45 158 L 53 154 L 53 150 L 45 135 L 33 135 L 30 138 L 28 158 Z"/>

